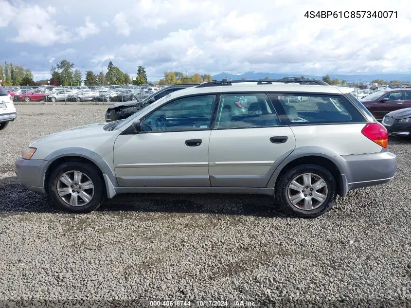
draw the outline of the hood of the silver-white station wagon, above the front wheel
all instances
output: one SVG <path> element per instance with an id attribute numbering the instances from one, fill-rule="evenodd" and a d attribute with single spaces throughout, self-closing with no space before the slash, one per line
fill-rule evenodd
<path id="1" fill-rule="evenodd" d="M 33 142 L 31 145 L 35 145 L 36 143 L 39 143 L 39 142 L 49 142 L 49 141 L 54 141 L 54 140 L 65 140 L 67 142 L 70 142 L 73 139 L 79 139 L 79 138 L 88 137 L 92 135 L 98 135 L 99 133 L 104 134 L 104 133 L 107 133 L 107 131 L 103 129 L 103 127 L 106 124 L 107 123 L 98 123 L 98 124 L 89 124 L 89 125 L 69 128 L 67 130 L 63 130 L 58 133 L 47 135 L 41 139 L 38 139 L 35 142 Z"/>

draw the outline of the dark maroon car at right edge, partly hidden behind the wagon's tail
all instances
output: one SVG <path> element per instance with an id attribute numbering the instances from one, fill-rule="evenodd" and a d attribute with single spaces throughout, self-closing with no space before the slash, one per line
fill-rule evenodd
<path id="1" fill-rule="evenodd" d="M 360 102 L 371 111 L 377 120 L 387 113 L 411 107 L 411 89 L 377 91 L 367 95 Z"/>

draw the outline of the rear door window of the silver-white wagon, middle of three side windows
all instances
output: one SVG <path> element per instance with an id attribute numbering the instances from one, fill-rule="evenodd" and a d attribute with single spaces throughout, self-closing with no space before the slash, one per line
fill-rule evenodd
<path id="1" fill-rule="evenodd" d="M 231 93 L 220 96 L 215 128 L 268 127 L 280 125 L 264 93 Z"/>

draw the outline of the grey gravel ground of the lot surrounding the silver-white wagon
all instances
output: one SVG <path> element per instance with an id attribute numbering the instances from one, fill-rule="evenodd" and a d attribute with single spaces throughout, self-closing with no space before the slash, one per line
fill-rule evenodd
<path id="1" fill-rule="evenodd" d="M 102 122 L 106 108 L 17 106 L 0 132 L 0 306 L 411 306 L 409 140 L 390 139 L 393 181 L 351 191 L 310 220 L 251 195 L 116 196 L 74 215 L 20 187 L 14 161 L 25 146 Z"/>

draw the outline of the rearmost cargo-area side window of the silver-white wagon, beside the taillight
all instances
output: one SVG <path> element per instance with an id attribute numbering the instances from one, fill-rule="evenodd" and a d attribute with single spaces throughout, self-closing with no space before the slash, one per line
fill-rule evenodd
<path id="1" fill-rule="evenodd" d="M 270 93 L 282 124 L 326 124 L 364 122 L 344 96 L 326 94 Z"/>

